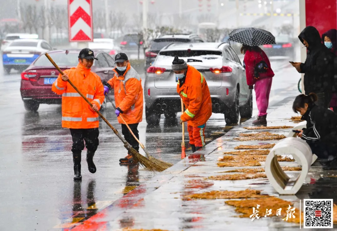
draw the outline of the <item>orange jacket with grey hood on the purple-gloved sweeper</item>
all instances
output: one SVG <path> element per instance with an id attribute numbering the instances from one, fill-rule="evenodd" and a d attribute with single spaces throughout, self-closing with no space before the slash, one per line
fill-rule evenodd
<path id="1" fill-rule="evenodd" d="M 127 124 L 139 123 L 143 119 L 143 87 L 142 79 L 133 69 L 130 63 L 127 64 L 123 76 L 115 75 L 108 83 L 115 91 L 116 108 L 123 111 L 123 119 Z M 118 117 L 119 123 L 124 123 Z"/>

